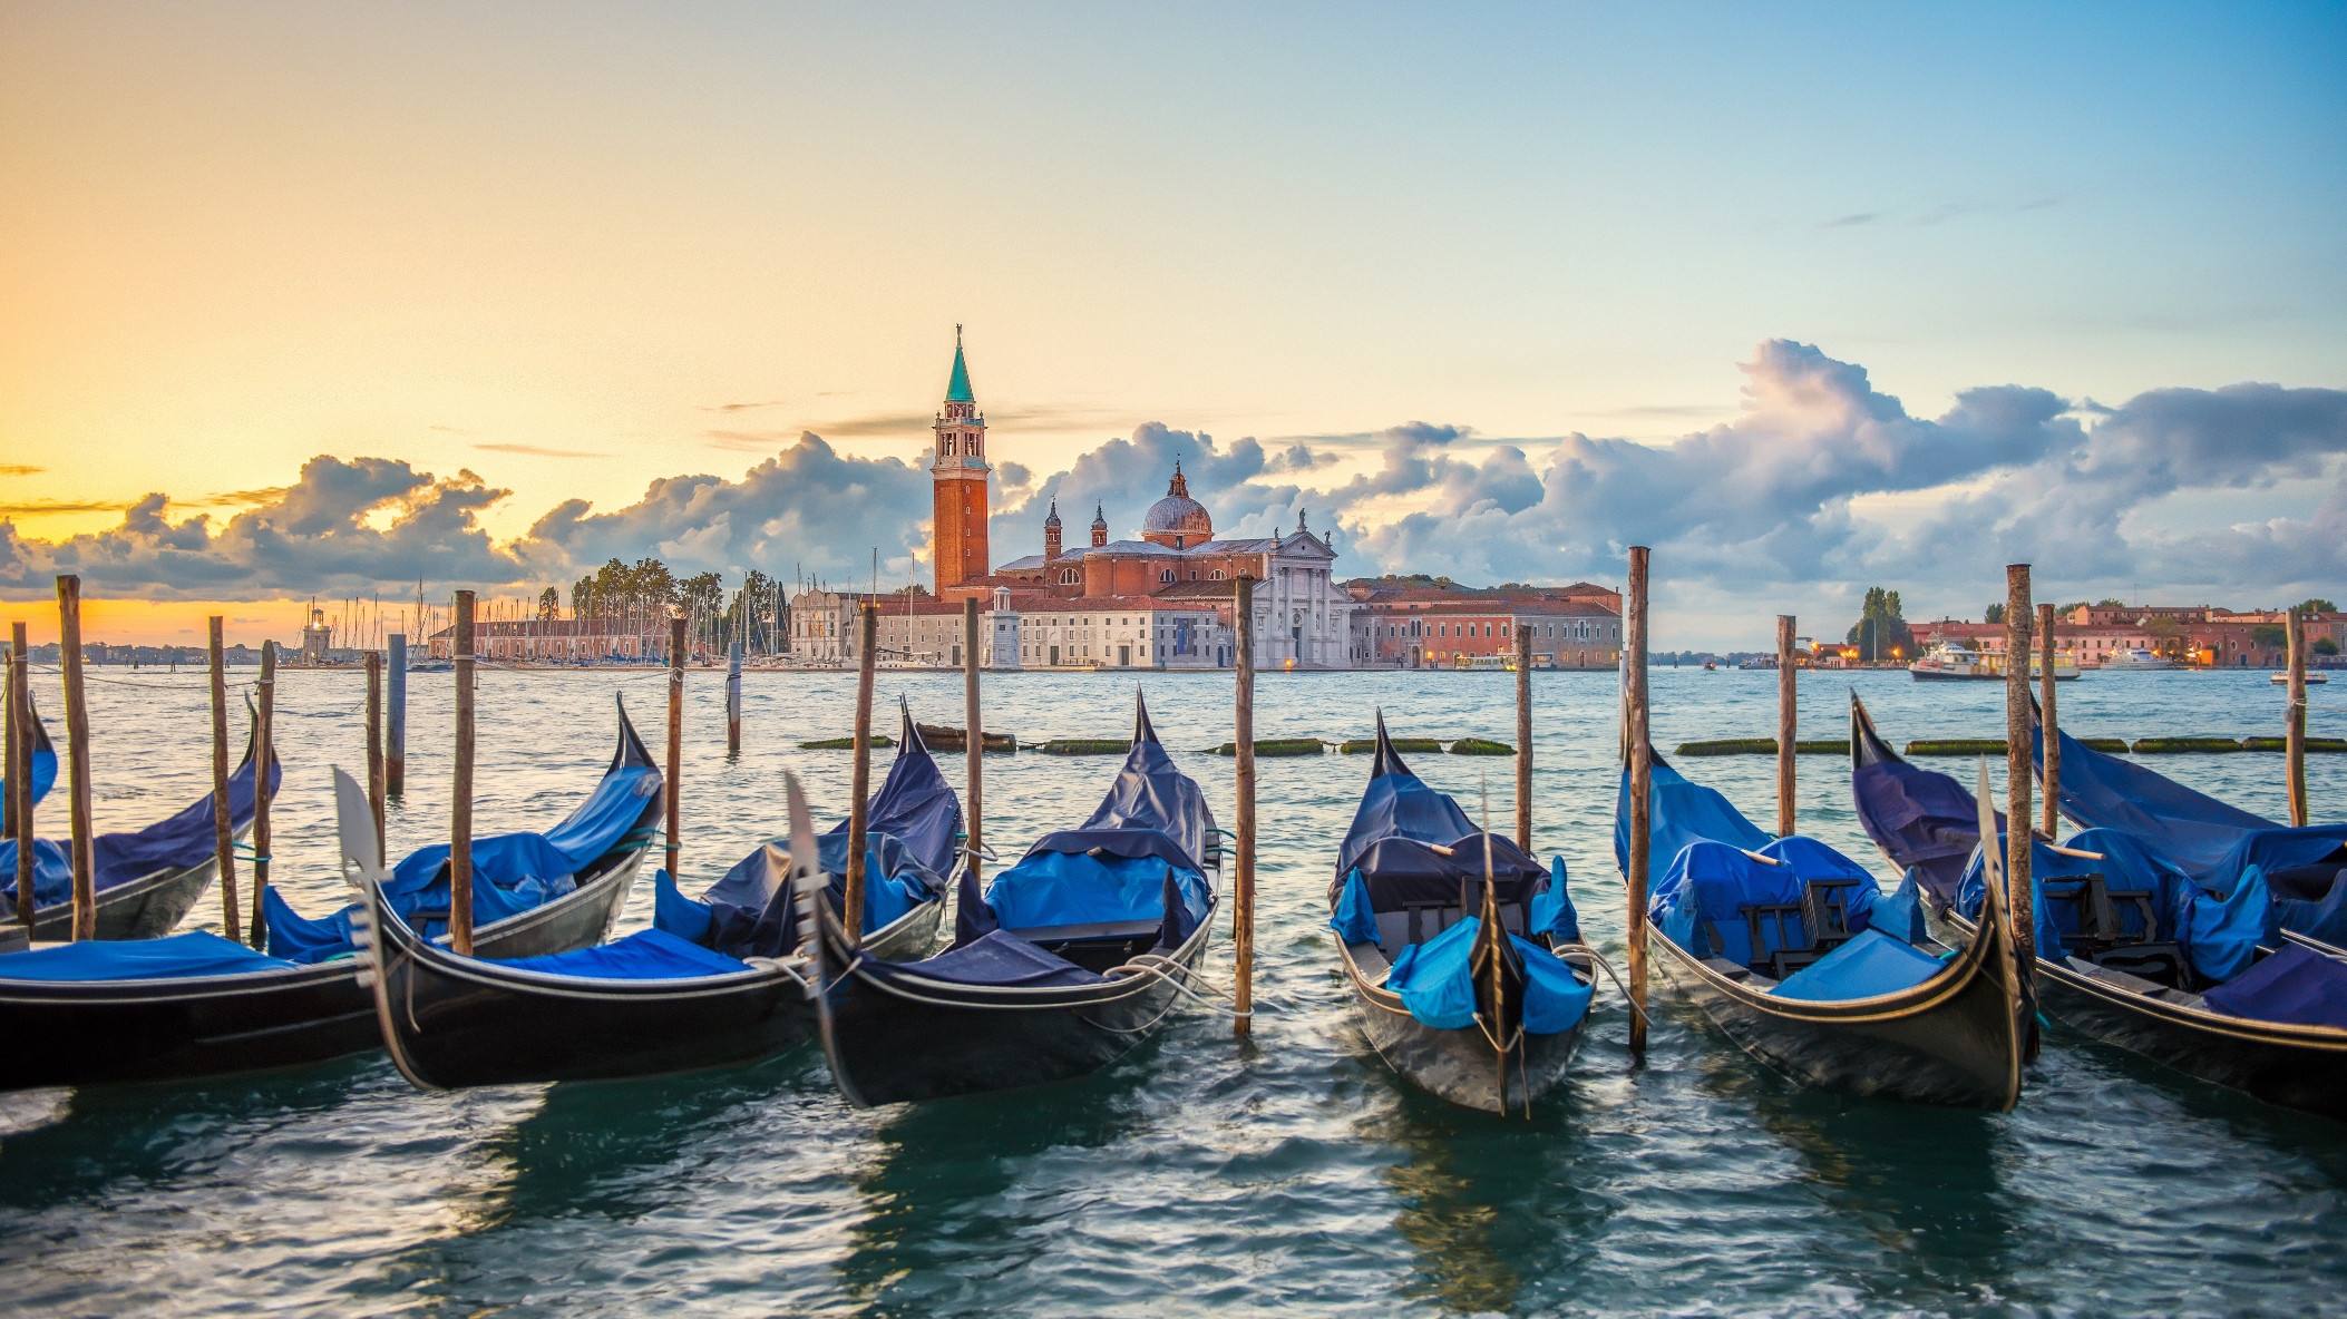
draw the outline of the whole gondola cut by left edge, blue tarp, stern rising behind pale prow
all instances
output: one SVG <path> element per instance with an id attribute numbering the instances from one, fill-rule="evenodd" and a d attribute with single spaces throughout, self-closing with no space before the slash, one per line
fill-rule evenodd
<path id="1" fill-rule="evenodd" d="M 486 894 L 498 887 L 502 864 L 530 857 L 552 864 L 563 850 L 587 857 L 568 875 L 570 892 L 483 922 L 474 951 L 535 958 L 608 936 L 660 831 L 660 782 L 622 706 L 620 749 L 580 810 L 545 836 L 474 843 L 476 911 L 500 911 L 500 899 Z M 408 861 L 422 859 L 430 880 L 446 857 L 439 845 Z M 430 901 L 434 892 L 446 892 L 446 880 L 401 901 Z M 300 922 L 291 941 L 270 927 L 275 955 L 209 932 L 0 955 L 0 1037 L 9 1042 L 0 1049 L 0 1089 L 242 1073 L 378 1047 L 383 1035 L 373 993 L 359 983 L 357 946 L 329 943 L 361 908 L 305 922 L 275 887 L 268 899 L 275 901 L 265 911 Z"/>

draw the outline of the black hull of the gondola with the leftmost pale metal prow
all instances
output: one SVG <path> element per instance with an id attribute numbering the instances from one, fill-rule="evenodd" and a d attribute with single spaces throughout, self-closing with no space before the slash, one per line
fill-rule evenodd
<path id="1" fill-rule="evenodd" d="M 380 906 L 378 906 L 380 911 Z M 885 958 L 936 946 L 943 901 L 873 934 Z M 584 981 L 514 972 L 380 925 L 376 1009 L 399 1070 L 427 1089 L 650 1077 L 753 1063 L 817 1033 L 793 967 L 690 981 Z"/>

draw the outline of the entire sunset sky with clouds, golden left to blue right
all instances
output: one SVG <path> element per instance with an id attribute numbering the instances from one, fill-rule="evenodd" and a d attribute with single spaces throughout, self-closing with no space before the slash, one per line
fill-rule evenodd
<path id="1" fill-rule="evenodd" d="M 1340 573 L 2347 587 L 2347 7 L 0 5 L 0 615 L 925 577 L 1164 491 Z"/>

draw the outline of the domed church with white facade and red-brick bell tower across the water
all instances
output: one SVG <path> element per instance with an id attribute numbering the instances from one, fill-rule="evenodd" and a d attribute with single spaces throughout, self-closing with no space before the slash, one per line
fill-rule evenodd
<path id="1" fill-rule="evenodd" d="M 1141 519 L 1138 540 L 1110 540 L 1103 507 L 1089 544 L 1068 549 L 1058 505 L 1044 514 L 1042 554 L 995 566 L 988 547 L 986 413 L 969 387 L 960 329 L 929 462 L 934 601 L 882 603 L 882 631 L 901 613 L 906 648 L 920 650 L 922 610 L 960 613 L 976 596 L 981 636 L 997 669 L 1227 669 L 1235 664 L 1237 580 L 1256 580 L 1256 667 L 1350 669 L 1359 606 L 1335 582 L 1335 549 L 1296 514 L 1293 533 L 1218 540 L 1213 514 L 1190 498 L 1174 462 L 1166 495 Z M 882 648 L 890 648 L 882 636 Z M 958 648 L 955 648 L 958 650 Z M 939 662 L 946 662 L 939 655 Z"/>

